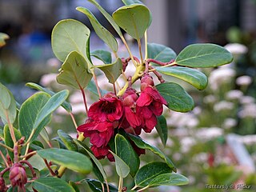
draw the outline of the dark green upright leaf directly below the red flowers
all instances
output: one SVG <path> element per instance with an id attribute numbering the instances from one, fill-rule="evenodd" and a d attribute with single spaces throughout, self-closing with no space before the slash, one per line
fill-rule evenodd
<path id="1" fill-rule="evenodd" d="M 121 134 L 116 134 L 114 142 L 116 146 L 116 154 L 130 167 L 130 174 L 134 177 L 138 171 L 140 163 L 138 154 L 136 154 L 134 148 L 130 145 L 130 142 L 128 142 Z"/>

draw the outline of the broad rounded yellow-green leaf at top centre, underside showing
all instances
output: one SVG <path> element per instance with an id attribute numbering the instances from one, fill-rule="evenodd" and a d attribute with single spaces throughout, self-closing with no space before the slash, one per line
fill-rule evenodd
<path id="1" fill-rule="evenodd" d="M 113 18 L 127 34 L 139 40 L 150 25 L 150 10 L 141 4 L 122 6 L 114 11 Z"/>

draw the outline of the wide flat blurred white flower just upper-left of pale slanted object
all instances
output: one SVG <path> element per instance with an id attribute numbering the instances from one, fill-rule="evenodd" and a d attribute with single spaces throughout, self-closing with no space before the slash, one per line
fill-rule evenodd
<path id="1" fill-rule="evenodd" d="M 213 138 L 222 136 L 223 130 L 219 127 L 203 127 L 200 128 L 195 134 L 198 139 L 210 141 Z"/>

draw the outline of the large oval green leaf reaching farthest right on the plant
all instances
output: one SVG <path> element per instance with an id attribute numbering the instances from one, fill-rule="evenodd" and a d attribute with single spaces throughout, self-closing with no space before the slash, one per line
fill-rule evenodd
<path id="1" fill-rule="evenodd" d="M 222 46 L 210 43 L 198 43 L 186 46 L 176 60 L 179 66 L 214 67 L 232 62 L 233 56 Z"/>

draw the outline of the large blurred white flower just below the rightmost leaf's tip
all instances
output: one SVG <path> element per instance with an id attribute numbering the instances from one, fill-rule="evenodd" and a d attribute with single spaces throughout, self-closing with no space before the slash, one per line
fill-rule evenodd
<path id="1" fill-rule="evenodd" d="M 209 86 L 212 90 L 218 90 L 219 86 L 230 82 L 234 78 L 235 70 L 230 67 L 219 67 L 213 70 L 209 76 Z"/>

